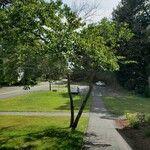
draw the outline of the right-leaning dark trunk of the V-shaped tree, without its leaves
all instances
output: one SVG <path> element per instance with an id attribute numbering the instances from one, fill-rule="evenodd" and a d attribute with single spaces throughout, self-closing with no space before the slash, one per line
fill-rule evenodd
<path id="1" fill-rule="evenodd" d="M 79 112 L 78 112 L 78 114 L 77 114 L 77 117 L 75 118 L 75 121 L 74 121 L 74 123 L 72 124 L 72 129 L 73 129 L 73 130 L 76 129 L 76 127 L 77 127 L 77 125 L 78 125 L 78 122 L 79 122 L 79 120 L 80 120 L 80 117 L 81 117 L 81 115 L 82 115 L 82 113 L 83 113 L 83 110 L 84 110 L 84 108 L 85 108 L 85 106 L 86 106 L 86 103 L 87 103 L 87 101 L 88 101 L 88 99 L 89 99 L 89 97 L 90 97 L 90 95 L 91 95 L 91 92 L 92 92 L 92 89 L 93 89 L 93 79 L 94 79 L 94 77 L 95 77 L 95 73 L 92 74 L 91 83 L 89 84 L 89 90 L 88 90 L 88 92 L 87 92 L 87 94 L 86 94 L 86 96 L 85 96 L 85 98 L 84 98 L 84 100 L 83 100 L 83 102 L 82 102 L 82 104 L 81 104 L 81 107 L 80 107 L 80 110 L 79 110 Z"/>

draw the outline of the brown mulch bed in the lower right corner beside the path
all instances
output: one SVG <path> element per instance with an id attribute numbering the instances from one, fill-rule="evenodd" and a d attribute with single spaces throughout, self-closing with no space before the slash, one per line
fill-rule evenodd
<path id="1" fill-rule="evenodd" d="M 149 124 L 144 124 L 138 129 L 129 127 L 127 120 L 116 120 L 118 132 L 128 142 L 133 150 L 150 150 L 150 137 L 145 136 L 145 129 L 150 129 Z"/>

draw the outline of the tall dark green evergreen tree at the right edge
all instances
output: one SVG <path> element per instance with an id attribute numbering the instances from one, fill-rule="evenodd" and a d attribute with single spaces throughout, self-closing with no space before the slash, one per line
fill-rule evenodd
<path id="1" fill-rule="evenodd" d="M 113 20 L 129 24 L 133 38 L 122 43 L 118 54 L 137 63 L 120 65 L 118 77 L 123 85 L 138 93 L 143 93 L 148 85 L 150 40 L 147 28 L 150 24 L 150 2 L 148 0 L 122 0 L 113 12 Z"/>

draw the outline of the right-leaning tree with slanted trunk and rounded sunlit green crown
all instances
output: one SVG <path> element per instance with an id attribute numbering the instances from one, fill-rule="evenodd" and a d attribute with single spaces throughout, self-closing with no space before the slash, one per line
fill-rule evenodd
<path id="1" fill-rule="evenodd" d="M 103 29 L 103 30 L 102 30 Z M 72 124 L 78 125 L 87 100 L 93 88 L 95 75 L 101 70 L 118 70 L 119 57 L 115 55 L 119 41 L 128 41 L 132 37 L 126 25 L 118 26 L 115 22 L 103 19 L 99 24 L 85 27 L 74 43 L 74 53 L 70 61 L 89 74 L 89 90 L 82 100 L 80 110 Z"/>

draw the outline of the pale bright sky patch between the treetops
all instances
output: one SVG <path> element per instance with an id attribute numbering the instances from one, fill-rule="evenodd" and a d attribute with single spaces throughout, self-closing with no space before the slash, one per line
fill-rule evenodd
<path id="1" fill-rule="evenodd" d="M 121 0 L 63 0 L 63 2 L 68 4 L 72 9 L 74 9 L 74 3 L 77 8 L 80 8 L 83 3 L 88 4 L 88 7 L 93 7 L 96 4 L 99 4 L 95 15 L 89 18 L 88 21 L 90 22 L 100 21 L 103 17 L 111 19 L 113 8 L 115 8 L 120 1 Z"/>

